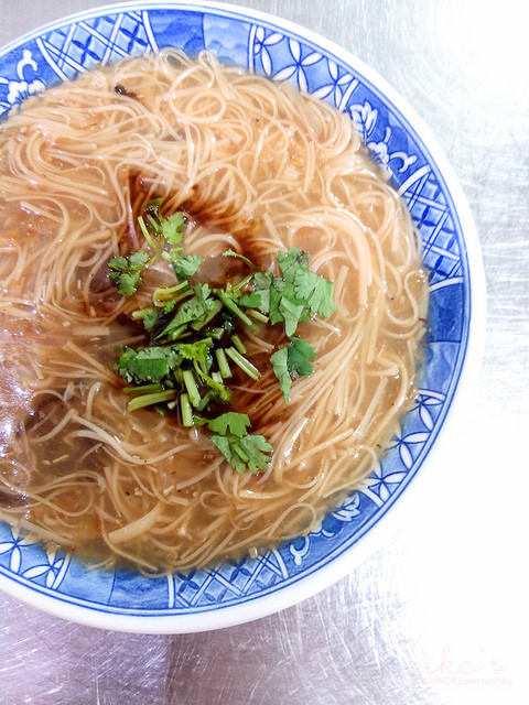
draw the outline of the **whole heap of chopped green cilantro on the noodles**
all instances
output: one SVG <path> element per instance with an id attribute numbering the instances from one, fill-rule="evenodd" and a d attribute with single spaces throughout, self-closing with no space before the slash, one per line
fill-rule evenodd
<path id="1" fill-rule="evenodd" d="M 160 254 L 177 280 L 154 291 L 152 307 L 131 314 L 142 323 L 149 343 L 125 348 L 115 366 L 129 384 L 123 389 L 131 397 L 128 410 L 150 406 L 176 416 L 183 426 L 203 426 L 238 473 L 264 470 L 272 446 L 264 436 L 249 432 L 247 414 L 229 411 L 227 384 L 235 372 L 253 380 L 261 375 L 247 357 L 245 333 L 258 329 L 257 325 L 282 326 L 288 344 L 270 361 L 288 403 L 293 381 L 312 375 L 316 357 L 315 348 L 295 335 L 298 326 L 336 310 L 333 284 L 309 269 L 309 254 L 300 248 L 278 252 L 280 274 L 256 271 L 244 254 L 226 250 L 225 257 L 239 258 L 250 273 L 224 288 L 194 283 L 204 258 L 184 251 L 185 217 L 162 216 L 162 205 L 160 198 L 151 200 L 138 218 L 147 249 L 109 261 L 110 276 L 123 295 L 137 292 L 143 270 Z"/>

